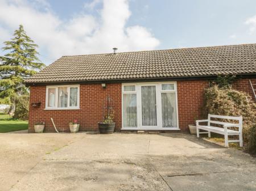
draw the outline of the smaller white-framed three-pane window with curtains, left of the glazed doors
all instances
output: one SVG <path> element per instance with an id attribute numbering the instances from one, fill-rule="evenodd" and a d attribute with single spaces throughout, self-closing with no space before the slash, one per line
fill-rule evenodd
<path id="1" fill-rule="evenodd" d="M 46 109 L 79 109 L 79 85 L 47 86 Z"/>

